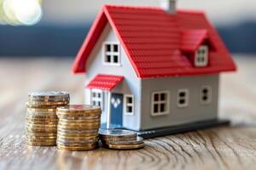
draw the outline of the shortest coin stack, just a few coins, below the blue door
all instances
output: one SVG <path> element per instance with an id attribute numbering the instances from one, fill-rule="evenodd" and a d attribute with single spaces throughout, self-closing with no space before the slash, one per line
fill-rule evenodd
<path id="1" fill-rule="evenodd" d="M 136 132 L 124 129 L 100 129 L 102 145 L 114 150 L 135 150 L 144 147 L 142 137 Z"/>

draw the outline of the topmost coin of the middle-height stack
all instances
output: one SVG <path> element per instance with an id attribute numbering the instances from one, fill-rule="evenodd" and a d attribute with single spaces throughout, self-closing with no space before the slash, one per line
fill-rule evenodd
<path id="1" fill-rule="evenodd" d="M 87 111 L 102 112 L 102 109 L 101 107 L 94 106 L 94 105 L 67 105 L 67 106 L 59 107 L 57 111 L 67 112 L 67 113 L 79 113 L 79 112 L 87 112 Z"/>

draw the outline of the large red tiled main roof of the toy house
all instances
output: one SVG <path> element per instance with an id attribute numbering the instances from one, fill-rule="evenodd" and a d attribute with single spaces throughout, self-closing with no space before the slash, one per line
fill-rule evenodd
<path id="1" fill-rule="evenodd" d="M 205 14 L 181 10 L 176 14 L 167 14 L 160 8 L 106 5 L 74 60 L 74 73 L 85 72 L 90 52 L 108 22 L 125 49 L 137 77 L 189 76 L 236 70 L 224 42 Z M 216 49 L 210 51 L 207 67 L 196 68 L 182 53 L 183 49 L 194 50 L 207 37 Z"/>

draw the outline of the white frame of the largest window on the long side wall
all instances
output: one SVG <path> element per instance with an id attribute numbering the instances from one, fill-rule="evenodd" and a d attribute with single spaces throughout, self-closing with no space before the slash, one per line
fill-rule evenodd
<path id="1" fill-rule="evenodd" d="M 166 100 L 154 101 L 154 94 L 166 94 Z M 166 104 L 166 111 L 160 112 L 160 104 Z M 159 112 L 154 112 L 154 105 L 158 105 Z M 169 91 L 157 91 L 151 94 L 151 116 L 162 116 L 170 113 L 170 92 Z"/>

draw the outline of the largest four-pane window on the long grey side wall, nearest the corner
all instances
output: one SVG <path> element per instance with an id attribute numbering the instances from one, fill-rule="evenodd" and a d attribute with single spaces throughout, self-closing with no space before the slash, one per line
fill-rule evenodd
<path id="1" fill-rule="evenodd" d="M 151 94 L 151 115 L 160 116 L 169 113 L 169 92 L 154 92 Z"/>

